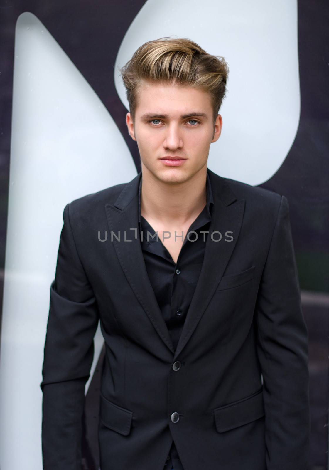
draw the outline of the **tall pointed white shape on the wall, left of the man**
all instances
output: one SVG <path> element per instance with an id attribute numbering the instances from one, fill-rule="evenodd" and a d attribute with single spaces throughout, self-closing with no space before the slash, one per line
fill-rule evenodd
<path id="1" fill-rule="evenodd" d="M 20 15 L 0 343 L 1 470 L 42 469 L 39 384 L 64 206 L 136 174 L 91 86 L 38 18 Z M 102 344 L 98 329 L 92 372 Z"/>

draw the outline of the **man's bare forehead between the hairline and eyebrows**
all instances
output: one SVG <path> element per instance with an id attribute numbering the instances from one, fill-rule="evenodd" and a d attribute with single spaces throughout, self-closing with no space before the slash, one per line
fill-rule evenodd
<path id="1" fill-rule="evenodd" d="M 191 112 L 192 108 L 199 113 L 212 113 L 209 93 L 192 86 L 143 80 L 138 86 L 136 98 L 138 115 L 151 112 L 178 116 Z"/>

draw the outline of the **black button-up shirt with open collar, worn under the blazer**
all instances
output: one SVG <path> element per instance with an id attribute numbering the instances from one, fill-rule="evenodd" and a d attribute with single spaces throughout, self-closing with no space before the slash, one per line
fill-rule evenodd
<path id="1" fill-rule="evenodd" d="M 157 239 L 154 229 L 141 216 L 140 195 L 142 177 L 139 182 L 138 228 L 146 271 L 175 349 L 203 263 L 208 234 L 201 232 L 209 230 L 214 205 L 208 170 L 206 187 L 207 204 L 194 222 L 192 222 L 188 232 L 184 233 L 184 243 L 179 252 L 177 263 L 175 263 L 162 243 L 161 237 Z M 196 234 L 190 233 L 188 235 L 192 231 L 196 232 Z M 141 232 L 143 232 L 143 236 L 141 236 Z M 179 235 L 182 235 L 182 233 L 176 234 L 177 240 L 182 239 L 182 236 L 178 238 Z M 187 238 L 187 235 L 190 240 Z M 171 233 L 171 237 L 174 236 L 175 233 Z M 174 441 L 170 448 L 165 469 L 171 470 L 172 467 L 174 467 L 174 470 L 184 470 Z"/>

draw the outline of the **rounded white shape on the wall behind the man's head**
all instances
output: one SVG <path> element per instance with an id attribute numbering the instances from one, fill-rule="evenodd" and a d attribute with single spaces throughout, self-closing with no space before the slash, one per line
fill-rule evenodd
<path id="1" fill-rule="evenodd" d="M 208 167 L 252 185 L 271 178 L 299 124 L 296 0 L 146 1 L 115 63 L 115 86 L 127 109 L 118 67 L 146 41 L 163 36 L 189 38 L 229 63 L 222 135 L 210 146 Z"/>

